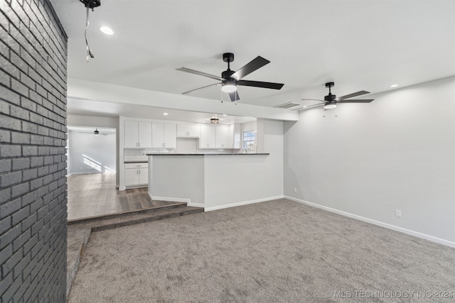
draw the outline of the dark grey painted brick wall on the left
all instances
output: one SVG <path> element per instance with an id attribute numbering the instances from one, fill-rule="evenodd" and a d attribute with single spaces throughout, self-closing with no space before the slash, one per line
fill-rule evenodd
<path id="1" fill-rule="evenodd" d="M 65 302 L 67 37 L 49 0 L 0 0 L 0 302 Z"/>

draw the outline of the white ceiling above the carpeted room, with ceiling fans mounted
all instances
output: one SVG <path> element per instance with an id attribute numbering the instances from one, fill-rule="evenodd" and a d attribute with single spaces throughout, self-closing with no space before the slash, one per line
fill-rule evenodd
<path id="1" fill-rule="evenodd" d="M 284 87 L 239 87 L 240 102 L 272 107 L 322 99 L 329 81 L 343 96 L 455 75 L 453 0 L 102 0 L 90 11 L 95 58 L 88 63 L 85 7 L 80 0 L 51 2 L 68 34 L 68 77 L 75 79 L 180 95 L 216 80 L 176 68 L 220 76 L 227 68 L 223 53 L 235 54 L 232 70 L 260 55 L 271 63 L 245 79 Z M 220 86 L 191 93 L 220 95 Z M 68 113 L 82 112 L 74 104 Z M 90 110 L 85 106 L 85 114 Z"/>

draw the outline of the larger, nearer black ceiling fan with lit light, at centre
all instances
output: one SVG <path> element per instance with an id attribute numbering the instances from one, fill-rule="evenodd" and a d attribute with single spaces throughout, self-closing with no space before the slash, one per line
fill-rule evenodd
<path id="1" fill-rule="evenodd" d="M 281 89 L 284 85 L 281 83 L 242 80 L 242 78 L 245 77 L 246 75 L 249 75 L 250 73 L 254 72 L 260 67 L 263 67 L 264 65 L 270 63 L 269 60 L 264 59 L 261 56 L 257 56 L 255 59 L 247 63 L 247 65 L 240 68 L 240 70 L 237 70 L 237 72 L 230 70 L 230 62 L 234 61 L 234 54 L 224 53 L 223 61 L 228 62 L 228 70 L 222 72 L 221 77 L 206 74 L 205 72 L 198 72 L 197 70 L 191 70 L 186 67 L 181 67 L 176 70 L 179 70 L 181 72 L 189 72 L 191 74 L 200 75 L 203 77 L 208 77 L 220 81 L 218 83 L 210 84 L 205 87 L 211 87 L 213 85 L 221 84 L 222 85 L 221 90 L 229 94 L 231 101 L 240 100 L 239 94 L 237 93 L 237 85 L 242 85 L 245 87 L 262 87 L 264 89 Z M 203 89 L 205 87 L 199 87 L 198 89 Z M 198 89 L 192 89 L 191 91 L 183 92 L 182 94 L 188 94 L 189 92 L 194 92 Z"/>

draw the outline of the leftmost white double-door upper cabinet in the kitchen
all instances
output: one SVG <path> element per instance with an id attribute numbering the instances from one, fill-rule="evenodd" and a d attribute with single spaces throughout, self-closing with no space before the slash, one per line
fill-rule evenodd
<path id="1" fill-rule="evenodd" d="M 125 121 L 125 148 L 151 148 L 151 122 Z"/>

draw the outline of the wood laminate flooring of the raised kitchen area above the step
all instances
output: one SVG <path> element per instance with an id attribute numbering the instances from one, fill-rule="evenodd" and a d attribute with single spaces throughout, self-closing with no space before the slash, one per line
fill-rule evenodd
<path id="1" fill-rule="evenodd" d="M 147 187 L 119 192 L 115 187 L 115 174 L 70 175 L 67 180 L 68 220 L 178 204 L 150 199 Z"/>

